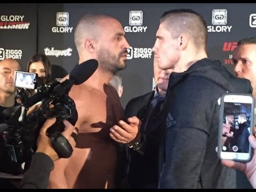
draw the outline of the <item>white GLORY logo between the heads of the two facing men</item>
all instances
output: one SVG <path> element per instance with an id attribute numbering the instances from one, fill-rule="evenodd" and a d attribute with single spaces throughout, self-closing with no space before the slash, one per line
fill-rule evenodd
<path id="1" fill-rule="evenodd" d="M 142 11 L 130 11 L 129 12 L 129 25 L 125 26 L 124 31 L 130 33 L 142 33 L 146 32 L 148 27 L 143 25 L 143 12 Z M 132 26 L 132 27 L 131 27 Z"/>

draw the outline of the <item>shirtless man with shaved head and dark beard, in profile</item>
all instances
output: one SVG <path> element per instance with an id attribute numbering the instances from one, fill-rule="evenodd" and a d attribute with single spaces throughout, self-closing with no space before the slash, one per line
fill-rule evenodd
<path id="1" fill-rule="evenodd" d="M 55 162 L 49 188 L 116 188 L 118 144 L 109 129 L 124 119 L 124 111 L 108 83 L 126 67 L 129 44 L 124 35 L 121 23 L 107 15 L 85 15 L 77 24 L 79 63 L 96 59 L 99 67 L 69 92 L 78 112 L 76 148 L 70 158 Z"/>

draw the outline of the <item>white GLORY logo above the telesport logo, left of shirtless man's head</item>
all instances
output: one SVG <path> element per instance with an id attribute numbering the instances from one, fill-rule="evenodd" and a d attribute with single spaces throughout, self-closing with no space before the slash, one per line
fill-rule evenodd
<path id="1" fill-rule="evenodd" d="M 57 12 L 56 25 L 58 27 L 52 27 L 53 33 L 72 33 L 73 27 L 69 27 L 68 12 Z"/>

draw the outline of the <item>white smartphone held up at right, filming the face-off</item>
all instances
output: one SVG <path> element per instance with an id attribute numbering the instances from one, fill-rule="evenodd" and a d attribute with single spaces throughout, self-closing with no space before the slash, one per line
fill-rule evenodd
<path id="1" fill-rule="evenodd" d="M 226 93 L 220 102 L 218 156 L 221 159 L 248 162 L 251 159 L 249 135 L 253 131 L 252 94 Z"/>

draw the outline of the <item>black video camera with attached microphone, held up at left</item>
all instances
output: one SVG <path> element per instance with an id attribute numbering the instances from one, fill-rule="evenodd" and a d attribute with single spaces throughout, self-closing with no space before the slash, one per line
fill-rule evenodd
<path id="1" fill-rule="evenodd" d="M 62 83 L 53 81 L 39 86 L 37 93 L 31 97 L 26 93 L 18 92 L 20 105 L 2 111 L 4 123 L 0 124 L 0 145 L 2 145 L 0 153 L 6 153 L 5 162 L 8 165 L 0 165 L 1 172 L 19 174 L 23 171 L 21 168 L 23 162 L 27 167 L 31 156 L 36 151 L 39 130 L 47 118 L 57 118 L 57 121 L 46 131 L 47 136 L 51 138 L 53 148 L 62 158 L 71 156 L 73 150 L 69 142 L 65 143 L 60 137 L 60 133 L 65 129 L 62 121 L 67 119 L 75 125 L 78 117 L 75 102 L 68 96 L 68 92 L 74 84 L 79 85 L 85 82 L 97 67 L 98 61 L 91 59 L 77 65 L 70 72 L 69 79 Z M 29 107 L 39 101 L 41 101 L 39 109 L 27 115 Z M 53 107 L 49 107 L 50 105 Z M 8 169 L 1 170 L 1 167 L 8 167 Z"/>

